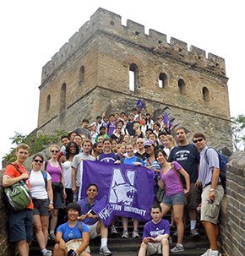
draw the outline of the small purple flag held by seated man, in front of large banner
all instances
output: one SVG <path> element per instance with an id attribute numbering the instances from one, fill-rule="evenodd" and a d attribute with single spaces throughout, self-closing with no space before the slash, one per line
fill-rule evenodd
<path id="1" fill-rule="evenodd" d="M 99 216 L 101 221 L 103 221 L 106 227 L 112 223 L 114 212 L 112 209 L 112 205 L 109 204 L 108 199 L 105 195 L 97 204 L 95 204 L 95 206 L 92 209 L 95 212 L 95 214 Z"/>

